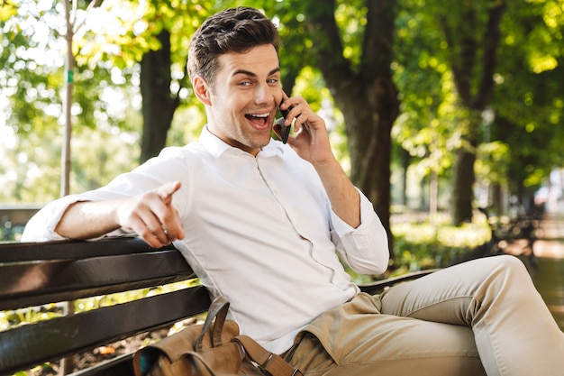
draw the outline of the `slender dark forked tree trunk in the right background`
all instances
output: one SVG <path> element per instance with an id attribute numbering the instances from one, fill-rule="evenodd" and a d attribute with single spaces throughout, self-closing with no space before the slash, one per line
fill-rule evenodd
<path id="1" fill-rule="evenodd" d="M 499 24 L 505 13 L 505 1 L 487 9 L 484 32 L 476 32 L 479 24 L 478 5 L 461 5 L 463 23 L 452 21 L 449 14 L 440 17 L 441 29 L 450 46 L 450 67 L 459 96 L 459 103 L 468 112 L 468 127 L 461 133 L 461 147 L 456 151 L 450 216 L 453 225 L 472 221 L 474 162 L 479 144 L 481 114 L 494 92 L 496 52 L 501 40 Z M 453 24 L 454 23 L 454 24 Z M 481 57 L 481 59 L 480 59 Z"/>

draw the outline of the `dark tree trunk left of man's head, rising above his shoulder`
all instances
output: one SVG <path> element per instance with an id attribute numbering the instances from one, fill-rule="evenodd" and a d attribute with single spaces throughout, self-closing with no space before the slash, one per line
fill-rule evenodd
<path id="1" fill-rule="evenodd" d="M 141 103 L 143 133 L 140 162 L 159 154 L 167 142 L 167 133 L 178 106 L 178 97 L 170 93 L 170 32 L 160 32 L 160 50 L 151 50 L 141 60 Z"/>

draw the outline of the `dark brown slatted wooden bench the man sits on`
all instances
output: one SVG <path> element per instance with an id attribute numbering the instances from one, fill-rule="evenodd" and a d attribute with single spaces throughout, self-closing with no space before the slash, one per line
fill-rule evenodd
<path id="1" fill-rule="evenodd" d="M 411 273 L 361 289 L 378 293 L 429 272 Z M 0 243 L 0 311 L 194 279 L 196 275 L 173 246 L 156 250 L 138 238 Z M 209 304 L 203 287 L 186 283 L 186 287 L 172 292 L 5 330 L 0 332 L 0 375 L 170 326 L 204 313 Z M 74 374 L 132 375 L 132 353 Z"/>

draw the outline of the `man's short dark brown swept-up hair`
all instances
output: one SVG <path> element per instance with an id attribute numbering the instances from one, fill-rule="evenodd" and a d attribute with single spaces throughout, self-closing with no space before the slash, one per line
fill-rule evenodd
<path id="1" fill-rule="evenodd" d="M 262 44 L 272 44 L 277 51 L 280 44 L 276 26 L 264 14 L 246 6 L 223 10 L 205 20 L 190 40 L 188 76 L 199 75 L 213 86 L 220 55 Z"/>

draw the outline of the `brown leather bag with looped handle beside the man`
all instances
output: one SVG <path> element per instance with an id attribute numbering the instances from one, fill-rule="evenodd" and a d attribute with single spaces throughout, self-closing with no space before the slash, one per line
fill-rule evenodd
<path id="1" fill-rule="evenodd" d="M 205 323 L 188 326 L 133 357 L 136 376 L 299 376 L 275 353 L 270 353 L 239 326 L 226 320 L 229 302 L 219 297 L 208 310 Z"/>

